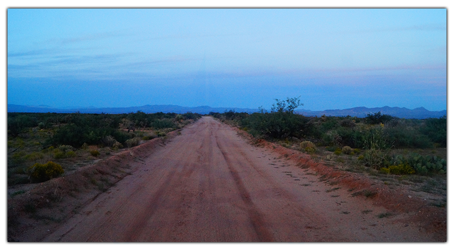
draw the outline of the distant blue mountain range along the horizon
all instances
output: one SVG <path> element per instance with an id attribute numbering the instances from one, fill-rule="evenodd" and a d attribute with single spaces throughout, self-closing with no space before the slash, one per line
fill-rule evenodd
<path id="1" fill-rule="evenodd" d="M 16 105 L 8 104 L 8 112 L 56 112 L 56 113 L 130 113 L 143 111 L 146 113 L 155 112 L 174 112 L 174 113 L 185 113 L 194 112 L 200 114 L 208 114 L 209 112 L 224 112 L 229 110 L 235 110 L 236 112 L 258 112 L 259 109 L 251 108 L 235 108 L 235 107 L 210 107 L 210 106 L 197 106 L 197 107 L 185 107 L 179 105 L 143 105 L 143 106 L 132 106 L 132 107 L 79 107 L 79 108 L 53 108 L 49 106 L 39 105 L 39 106 L 28 106 L 28 105 Z M 442 111 L 429 111 L 424 107 L 419 107 L 415 109 L 400 108 L 400 107 L 377 107 L 377 108 L 367 108 L 367 107 L 355 107 L 343 110 L 323 110 L 323 111 L 311 111 L 305 109 L 295 110 L 296 113 L 303 114 L 305 116 L 321 116 L 325 114 L 326 116 L 356 116 L 356 117 L 366 117 L 368 113 L 381 112 L 382 114 L 388 114 L 391 116 L 396 116 L 400 118 L 429 118 L 429 117 L 441 117 L 447 114 L 446 110 Z"/>

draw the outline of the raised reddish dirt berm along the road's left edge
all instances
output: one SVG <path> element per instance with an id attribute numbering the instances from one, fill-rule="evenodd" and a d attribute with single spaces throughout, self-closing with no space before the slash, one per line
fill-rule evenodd
<path id="1" fill-rule="evenodd" d="M 116 153 L 69 175 L 40 184 L 20 185 L 25 193 L 8 198 L 8 241 L 39 241 L 98 195 L 142 167 L 156 148 L 164 147 L 180 130 Z"/>

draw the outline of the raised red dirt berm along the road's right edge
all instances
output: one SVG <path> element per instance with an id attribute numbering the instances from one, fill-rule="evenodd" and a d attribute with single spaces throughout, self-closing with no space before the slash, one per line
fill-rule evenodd
<path id="1" fill-rule="evenodd" d="M 251 135 L 235 128 L 235 131 L 251 144 L 263 147 L 284 156 L 302 169 L 309 169 L 320 176 L 319 180 L 329 185 L 347 188 L 352 196 L 366 197 L 366 201 L 375 206 L 386 208 L 391 214 L 406 214 L 405 222 L 415 224 L 429 233 L 433 233 L 440 241 L 446 241 L 447 211 L 446 208 L 428 204 L 417 198 L 404 188 L 389 189 L 383 181 L 376 181 L 366 175 L 338 170 L 331 166 L 315 162 L 299 151 L 290 150 L 265 140 L 255 140 Z"/>

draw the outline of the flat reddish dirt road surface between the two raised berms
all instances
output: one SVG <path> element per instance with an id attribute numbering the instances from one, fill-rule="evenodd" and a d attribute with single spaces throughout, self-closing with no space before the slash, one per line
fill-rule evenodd
<path id="1" fill-rule="evenodd" d="M 431 241 L 211 117 L 182 130 L 43 241 Z"/>

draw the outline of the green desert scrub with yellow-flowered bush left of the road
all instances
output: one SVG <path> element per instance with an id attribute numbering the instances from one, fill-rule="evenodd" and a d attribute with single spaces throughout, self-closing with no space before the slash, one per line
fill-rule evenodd
<path id="1" fill-rule="evenodd" d="M 8 185 L 30 183 L 29 167 L 49 161 L 72 171 L 140 140 L 165 137 L 200 118 L 187 112 L 8 113 Z M 133 124 L 133 128 L 131 127 Z M 129 130 L 131 129 L 131 130 Z"/>

